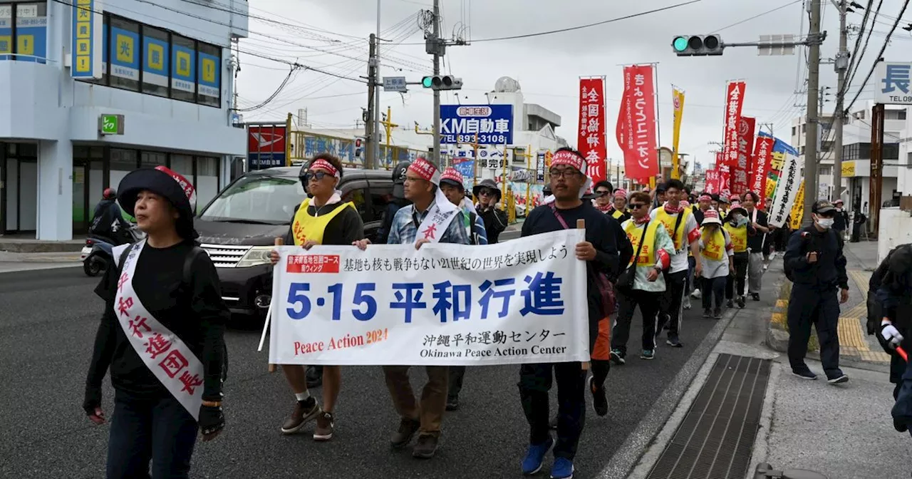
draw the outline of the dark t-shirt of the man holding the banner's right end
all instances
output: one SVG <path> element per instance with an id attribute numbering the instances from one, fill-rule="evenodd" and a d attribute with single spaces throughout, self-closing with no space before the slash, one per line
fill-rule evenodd
<path id="1" fill-rule="evenodd" d="M 605 213 L 602 213 L 589 202 L 567 210 L 558 209 L 557 212 L 564 218 L 567 226 L 576 227 L 576 220 L 586 220 L 586 241 L 596 248 L 596 259 L 586 263 L 586 284 L 590 322 L 598 321 L 605 317 L 602 311 L 602 294 L 598 289 L 596 273 L 607 277 L 617 277 L 619 258 L 617 252 L 617 234 L 612 228 Z M 620 225 L 614 222 L 617 228 Z M 551 206 L 544 204 L 532 210 L 529 217 L 523 222 L 523 236 L 550 233 L 563 230 L 564 226 L 557 220 Z M 625 235 L 626 236 L 626 235 Z M 627 242 L 629 245 L 629 242 Z M 575 245 L 567 245 L 569 255 L 574 255 Z"/>

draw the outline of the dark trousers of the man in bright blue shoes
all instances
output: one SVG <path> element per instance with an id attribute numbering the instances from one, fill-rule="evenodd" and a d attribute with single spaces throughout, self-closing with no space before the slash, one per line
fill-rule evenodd
<path id="1" fill-rule="evenodd" d="M 553 371 L 553 373 L 552 373 Z M 586 370 L 578 362 L 523 364 L 519 370 L 519 399 L 529 422 L 529 443 L 541 444 L 551 435 L 548 391 L 557 381 L 557 442 L 554 457 L 573 461 L 586 423 Z"/>

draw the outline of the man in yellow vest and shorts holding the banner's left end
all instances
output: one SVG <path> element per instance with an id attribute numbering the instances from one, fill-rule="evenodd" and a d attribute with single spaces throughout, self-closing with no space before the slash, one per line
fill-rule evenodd
<path id="1" fill-rule="evenodd" d="M 355 204 L 343 202 L 336 189 L 342 174 L 341 161 L 329 153 L 320 153 L 301 167 L 299 177 L 311 197 L 295 208 L 292 224 L 285 235 L 286 244 L 310 249 L 315 245 L 351 245 L 364 237 L 364 223 Z M 273 251 L 270 259 L 275 265 L 279 260 L 278 253 Z M 322 409 L 307 390 L 304 366 L 284 364 L 282 371 L 297 402 L 291 416 L 282 424 L 281 431 L 293 434 L 316 418 L 314 440 L 332 439 L 335 426 L 333 411 L 342 380 L 339 367 L 323 368 Z"/>

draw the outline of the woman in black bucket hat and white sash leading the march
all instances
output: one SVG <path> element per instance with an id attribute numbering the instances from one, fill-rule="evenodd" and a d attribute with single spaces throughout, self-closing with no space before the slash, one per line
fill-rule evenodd
<path id="1" fill-rule="evenodd" d="M 109 478 L 188 477 L 197 432 L 222 431 L 224 325 L 230 313 L 215 266 L 195 243 L 190 182 L 160 166 L 130 172 L 118 201 L 146 239 L 118 246 L 95 292 L 105 309 L 83 409 L 104 423 L 110 370 L 114 413 Z"/>

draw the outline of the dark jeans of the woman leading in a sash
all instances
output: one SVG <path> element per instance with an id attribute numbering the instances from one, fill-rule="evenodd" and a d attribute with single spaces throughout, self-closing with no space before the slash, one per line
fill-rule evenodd
<path id="1" fill-rule="evenodd" d="M 190 477 L 196 420 L 171 395 L 157 399 L 114 395 L 108 440 L 108 479 Z"/>

